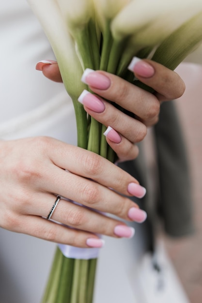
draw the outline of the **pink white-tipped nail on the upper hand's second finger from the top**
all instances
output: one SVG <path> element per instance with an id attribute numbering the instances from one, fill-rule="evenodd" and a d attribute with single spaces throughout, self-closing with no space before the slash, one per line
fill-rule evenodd
<path id="1" fill-rule="evenodd" d="M 111 81 L 107 76 L 90 68 L 87 68 L 84 71 L 81 81 L 87 85 L 93 86 L 98 90 L 107 90 L 111 84 Z"/>

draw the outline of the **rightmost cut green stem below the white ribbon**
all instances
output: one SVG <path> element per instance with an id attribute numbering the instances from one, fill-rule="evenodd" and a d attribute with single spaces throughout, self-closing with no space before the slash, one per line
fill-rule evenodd
<path id="1" fill-rule="evenodd" d="M 87 299 L 86 299 L 86 302 L 88 303 L 93 303 L 93 289 L 94 289 L 96 265 L 97 265 L 96 258 L 89 260 L 89 273 L 88 273 Z"/>

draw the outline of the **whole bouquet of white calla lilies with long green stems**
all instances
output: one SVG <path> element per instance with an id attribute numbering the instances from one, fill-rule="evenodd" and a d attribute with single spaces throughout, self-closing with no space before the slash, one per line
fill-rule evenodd
<path id="1" fill-rule="evenodd" d="M 106 126 L 87 116 L 78 102 L 88 87 L 86 68 L 105 70 L 139 85 L 127 69 L 134 56 L 174 70 L 202 41 L 202 0 L 28 0 L 49 39 L 66 91 L 72 98 L 78 146 L 110 161 L 115 154 Z M 65 245 L 62 245 L 65 246 Z M 59 246 L 43 303 L 92 303 L 97 252 L 72 253 Z M 64 252 L 65 251 L 65 252 Z M 66 253 L 68 251 L 68 253 Z"/>

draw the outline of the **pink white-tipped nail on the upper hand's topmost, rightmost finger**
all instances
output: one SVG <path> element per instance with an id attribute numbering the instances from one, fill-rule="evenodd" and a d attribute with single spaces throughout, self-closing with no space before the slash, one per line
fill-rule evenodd
<path id="1" fill-rule="evenodd" d="M 128 69 L 136 75 L 145 78 L 149 78 L 155 74 L 154 67 L 138 57 L 133 57 L 132 61 L 128 65 Z"/>

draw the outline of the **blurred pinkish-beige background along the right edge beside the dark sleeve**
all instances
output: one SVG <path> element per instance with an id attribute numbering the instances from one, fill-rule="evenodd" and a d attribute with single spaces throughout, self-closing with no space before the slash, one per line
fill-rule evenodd
<path id="1" fill-rule="evenodd" d="M 202 64 L 202 47 L 186 62 Z M 191 74 L 182 68 L 177 71 L 186 82 L 186 92 L 176 106 L 187 146 L 196 232 L 180 239 L 162 237 L 190 303 L 202 303 L 202 67 L 193 65 Z"/>

